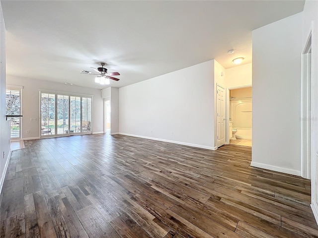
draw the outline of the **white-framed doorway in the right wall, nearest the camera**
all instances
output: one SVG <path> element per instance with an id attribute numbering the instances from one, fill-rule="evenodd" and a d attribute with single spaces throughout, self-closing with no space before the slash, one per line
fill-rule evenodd
<path id="1" fill-rule="evenodd" d="M 311 179 L 312 137 L 312 34 L 308 38 L 302 55 L 303 78 L 301 82 L 301 176 Z M 316 175 L 317 176 L 317 175 Z M 317 177 L 316 177 L 317 178 Z"/>

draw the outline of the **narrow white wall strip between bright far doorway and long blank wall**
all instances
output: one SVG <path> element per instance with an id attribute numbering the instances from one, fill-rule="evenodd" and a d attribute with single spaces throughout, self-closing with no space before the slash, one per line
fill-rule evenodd
<path id="1" fill-rule="evenodd" d="M 110 88 L 110 134 L 119 132 L 119 89 Z"/>

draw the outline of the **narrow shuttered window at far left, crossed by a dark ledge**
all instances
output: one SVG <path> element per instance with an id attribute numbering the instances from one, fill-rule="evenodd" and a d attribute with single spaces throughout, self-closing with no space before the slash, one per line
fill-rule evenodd
<path id="1" fill-rule="evenodd" d="M 6 89 L 6 115 L 21 114 L 21 90 Z M 20 117 L 10 119 L 10 138 L 19 139 L 21 136 L 21 119 Z"/>

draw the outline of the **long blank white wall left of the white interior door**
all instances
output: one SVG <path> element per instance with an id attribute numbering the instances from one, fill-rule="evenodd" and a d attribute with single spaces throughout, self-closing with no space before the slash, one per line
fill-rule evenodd
<path id="1" fill-rule="evenodd" d="M 120 133 L 214 149 L 213 78 L 210 60 L 120 88 Z"/>

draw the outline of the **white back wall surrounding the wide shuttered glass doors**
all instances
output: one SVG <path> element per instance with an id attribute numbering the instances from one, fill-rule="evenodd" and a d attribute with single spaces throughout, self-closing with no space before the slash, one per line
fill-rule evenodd
<path id="1" fill-rule="evenodd" d="M 40 97 L 39 89 L 93 95 L 92 132 L 103 131 L 103 99 L 100 89 L 71 86 L 44 80 L 15 77 L 7 75 L 7 84 L 23 86 L 22 89 L 22 139 L 38 138 L 40 136 Z M 31 121 L 36 118 L 36 121 Z M 30 133 L 26 133 L 30 130 Z"/>

